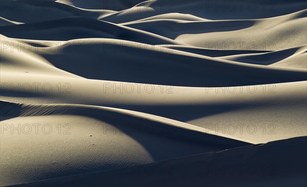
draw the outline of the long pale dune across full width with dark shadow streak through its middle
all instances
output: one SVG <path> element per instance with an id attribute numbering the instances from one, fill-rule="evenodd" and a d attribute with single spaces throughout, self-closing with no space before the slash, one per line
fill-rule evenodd
<path id="1" fill-rule="evenodd" d="M 27 83 L 36 83 L 36 75 L 10 75 L 14 76 L 8 78 L 7 74 L 1 75 L 1 98 L 4 100 L 123 108 L 163 116 L 202 128 L 211 124 L 215 127 L 210 127 L 212 130 L 217 130 L 217 125 L 223 127 L 224 124 L 224 128 L 218 133 L 249 139 L 256 143 L 306 135 L 306 81 L 228 88 L 139 84 L 138 88 L 136 83 L 82 78 L 63 80 L 62 77 L 40 75 L 41 84 L 37 89 L 32 85 L 31 90 L 18 90 L 13 89 L 10 84 L 4 84 L 12 83 L 16 87 L 19 83 L 21 87 Z M 20 80 L 21 78 L 23 80 Z M 49 83 L 53 89 L 50 91 L 48 86 L 47 90 L 42 89 L 45 83 Z M 56 87 L 59 83 L 62 85 L 61 90 Z M 124 88 L 126 85 L 129 88 L 127 91 Z M 131 86 L 134 88 L 133 91 L 130 91 Z M 193 97 L 190 97 L 191 95 Z M 236 133 L 229 133 L 225 129 L 225 126 L 231 124 L 236 126 Z M 243 132 L 240 132 L 239 124 L 245 125 Z M 256 131 L 253 128 L 251 131 L 246 129 L 252 124 L 257 126 Z"/>

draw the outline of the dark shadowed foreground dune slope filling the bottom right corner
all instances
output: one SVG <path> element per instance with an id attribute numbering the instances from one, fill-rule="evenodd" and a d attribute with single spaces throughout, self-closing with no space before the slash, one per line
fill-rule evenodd
<path id="1" fill-rule="evenodd" d="M 306 161 L 302 163 L 298 160 L 303 160 L 306 156 L 304 147 L 306 137 L 297 137 L 265 145 L 245 146 L 22 186 L 87 186 L 93 183 L 108 186 L 186 186 L 191 183 L 194 186 L 204 186 L 204 183 L 207 186 L 303 186 L 307 171 L 302 164 Z M 284 163 L 283 166 L 280 165 L 281 162 Z M 289 170 L 297 172 L 289 173 Z M 118 178 L 123 180 L 117 180 Z"/>

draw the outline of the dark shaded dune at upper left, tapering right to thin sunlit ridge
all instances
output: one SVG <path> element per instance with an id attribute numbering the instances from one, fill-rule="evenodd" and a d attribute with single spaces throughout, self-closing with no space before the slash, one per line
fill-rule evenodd
<path id="1" fill-rule="evenodd" d="M 84 17 L 69 17 L 43 22 L 4 26 L 1 34 L 21 39 L 71 40 L 78 38 L 114 38 L 148 44 L 181 44 L 144 31 Z"/>

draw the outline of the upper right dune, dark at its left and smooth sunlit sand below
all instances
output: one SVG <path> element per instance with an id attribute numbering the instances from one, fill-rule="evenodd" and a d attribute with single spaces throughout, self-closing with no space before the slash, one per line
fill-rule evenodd
<path id="1" fill-rule="evenodd" d="M 183 43 L 202 48 L 215 47 L 240 50 L 275 51 L 304 45 L 306 10 L 279 17 L 251 20 L 181 21 L 150 20 L 124 24 L 145 30 Z M 148 27 L 152 25 L 153 27 Z M 278 33 L 278 35 L 276 34 Z M 280 37 L 290 34 L 291 38 Z M 255 37 L 250 37 L 253 35 Z M 226 43 L 226 44 L 224 44 Z M 225 46 L 224 46 L 225 45 Z"/>

